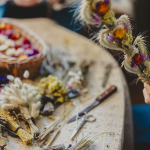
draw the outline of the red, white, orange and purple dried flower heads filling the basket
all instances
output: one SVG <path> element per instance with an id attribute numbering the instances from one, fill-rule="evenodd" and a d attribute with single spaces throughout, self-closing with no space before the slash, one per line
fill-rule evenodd
<path id="1" fill-rule="evenodd" d="M 13 25 L 6 23 L 0 23 L 0 52 L 21 59 L 39 54 L 29 39 L 16 31 Z"/>

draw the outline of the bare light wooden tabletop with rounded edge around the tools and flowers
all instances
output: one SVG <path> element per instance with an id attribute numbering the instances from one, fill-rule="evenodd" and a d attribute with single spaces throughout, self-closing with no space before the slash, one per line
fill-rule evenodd
<path id="1" fill-rule="evenodd" d="M 17 21 L 37 33 L 47 44 L 62 45 L 78 60 L 91 59 L 95 61 L 89 72 L 89 83 L 87 87 L 89 90 L 88 97 L 77 99 L 80 105 L 75 107 L 66 119 L 69 119 L 73 115 L 77 114 L 77 112 L 91 104 L 94 99 L 110 85 L 116 85 L 118 87 L 117 93 L 89 113 L 95 115 L 97 117 L 97 121 L 95 123 L 85 124 L 85 128 L 83 128 L 81 133 L 78 135 L 78 141 L 83 136 L 93 131 L 93 135 L 96 133 L 104 133 L 98 138 L 98 145 L 101 150 L 121 150 L 123 148 L 123 143 L 127 146 L 126 149 L 132 150 L 133 145 L 129 93 L 122 71 L 115 59 L 106 50 L 94 44 L 87 38 L 60 27 L 49 19 L 39 18 Z M 104 76 L 105 66 L 108 63 L 113 65 L 113 69 L 107 87 L 103 89 L 101 87 L 102 79 Z M 69 103 L 61 105 L 53 115 L 57 118 L 65 110 L 69 110 L 69 107 Z M 49 126 L 49 124 L 53 122 L 43 118 L 42 120 L 37 120 L 36 123 L 37 126 L 43 130 L 45 126 Z M 69 138 L 75 126 L 76 122 L 68 125 L 65 124 L 60 135 L 53 144 L 64 143 L 66 146 L 70 144 L 71 142 Z M 113 132 L 113 135 L 106 134 L 105 132 Z M 126 135 L 125 137 L 124 134 Z M 126 140 L 126 137 L 128 140 Z M 8 145 L 15 150 L 36 149 L 31 146 L 25 146 L 21 142 L 18 143 L 18 141 L 11 137 Z"/>

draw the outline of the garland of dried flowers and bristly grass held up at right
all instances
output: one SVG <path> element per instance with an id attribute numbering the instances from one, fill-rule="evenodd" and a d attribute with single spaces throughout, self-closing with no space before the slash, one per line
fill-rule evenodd
<path id="1" fill-rule="evenodd" d="M 128 16 L 114 17 L 111 0 L 82 0 L 77 19 L 90 25 L 104 25 L 98 33 L 99 43 L 108 49 L 125 53 L 123 66 L 137 74 L 144 83 L 150 84 L 150 60 L 143 35 L 133 40 Z"/>

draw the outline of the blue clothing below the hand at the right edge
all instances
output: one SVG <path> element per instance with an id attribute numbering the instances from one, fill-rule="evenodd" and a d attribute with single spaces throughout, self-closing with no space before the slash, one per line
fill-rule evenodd
<path id="1" fill-rule="evenodd" d="M 132 107 L 135 142 L 150 143 L 150 105 Z"/>

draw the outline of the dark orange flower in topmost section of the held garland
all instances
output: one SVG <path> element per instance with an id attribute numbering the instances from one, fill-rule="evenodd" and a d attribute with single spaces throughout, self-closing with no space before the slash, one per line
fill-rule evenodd
<path id="1" fill-rule="evenodd" d="M 105 15 L 109 11 L 109 5 L 106 2 L 98 3 L 98 14 Z"/>

